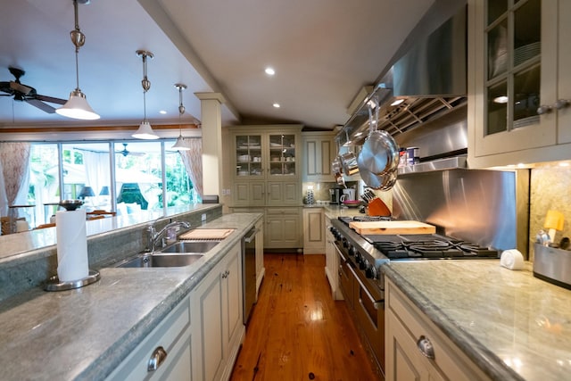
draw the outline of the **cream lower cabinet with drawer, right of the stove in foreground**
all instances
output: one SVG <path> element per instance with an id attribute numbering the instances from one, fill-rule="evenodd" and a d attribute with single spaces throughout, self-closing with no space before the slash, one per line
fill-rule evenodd
<path id="1" fill-rule="evenodd" d="M 388 279 L 385 308 L 387 381 L 490 379 Z"/>

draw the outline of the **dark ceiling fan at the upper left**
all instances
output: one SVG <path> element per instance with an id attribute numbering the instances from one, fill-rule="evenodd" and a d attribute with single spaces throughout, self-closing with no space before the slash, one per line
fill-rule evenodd
<path id="1" fill-rule="evenodd" d="M 12 96 L 15 101 L 26 102 L 47 113 L 54 113 L 55 108 L 46 102 L 50 104 L 65 104 L 67 102 L 65 99 L 39 95 L 34 87 L 22 84 L 20 78 L 26 74 L 26 71 L 14 67 L 9 67 L 8 70 L 16 80 L 0 82 L 0 93 L 5 93 L 0 94 L 0 96 Z"/>

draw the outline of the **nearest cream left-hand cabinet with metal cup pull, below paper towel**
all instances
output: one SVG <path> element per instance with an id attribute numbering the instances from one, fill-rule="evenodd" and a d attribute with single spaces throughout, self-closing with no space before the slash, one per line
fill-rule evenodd
<path id="1" fill-rule="evenodd" d="M 190 299 L 161 321 L 107 380 L 193 380 Z M 194 327 L 193 327 L 194 328 Z M 194 364 L 192 365 L 194 366 Z"/>

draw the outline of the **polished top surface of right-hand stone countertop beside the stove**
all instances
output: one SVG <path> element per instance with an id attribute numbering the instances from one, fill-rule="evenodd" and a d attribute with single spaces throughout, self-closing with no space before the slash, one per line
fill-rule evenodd
<path id="1" fill-rule="evenodd" d="M 571 373 L 571 291 L 533 276 L 531 264 L 393 261 L 382 267 L 492 379 L 562 380 Z"/>

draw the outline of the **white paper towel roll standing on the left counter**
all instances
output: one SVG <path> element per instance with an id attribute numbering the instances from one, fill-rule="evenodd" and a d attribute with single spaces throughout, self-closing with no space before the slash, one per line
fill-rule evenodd
<path id="1" fill-rule="evenodd" d="M 87 257 L 86 211 L 57 211 L 57 277 L 60 282 L 79 280 L 89 275 Z"/>

